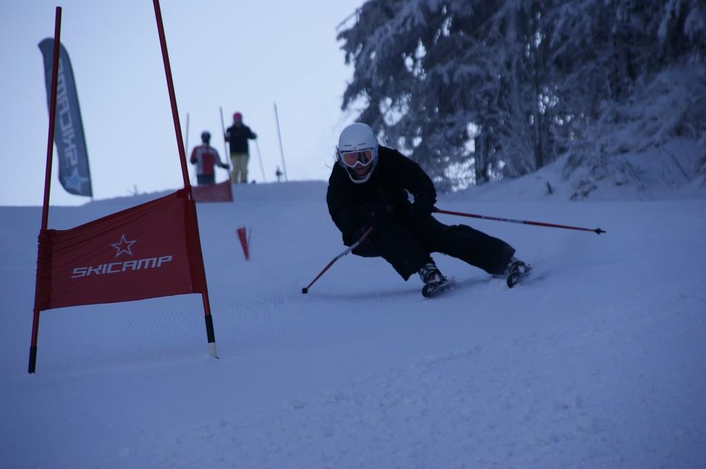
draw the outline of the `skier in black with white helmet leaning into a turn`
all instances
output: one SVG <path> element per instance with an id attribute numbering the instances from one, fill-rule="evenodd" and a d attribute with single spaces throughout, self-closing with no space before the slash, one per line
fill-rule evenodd
<path id="1" fill-rule="evenodd" d="M 378 145 L 364 123 L 353 123 L 340 135 L 326 202 L 343 243 L 353 245 L 372 227 L 352 252 L 383 257 L 405 281 L 414 273 L 425 284 L 445 281 L 431 252 L 457 257 L 489 274 L 507 274 L 517 262 L 515 249 L 505 241 L 432 217 L 436 190 L 429 176 L 397 150 Z"/>

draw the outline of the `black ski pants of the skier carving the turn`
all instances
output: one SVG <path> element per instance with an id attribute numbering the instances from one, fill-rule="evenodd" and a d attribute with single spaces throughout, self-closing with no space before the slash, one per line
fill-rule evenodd
<path id="1" fill-rule="evenodd" d="M 363 257 L 383 257 L 403 279 L 433 262 L 431 252 L 456 257 L 489 274 L 505 272 L 515 249 L 505 241 L 493 238 L 467 225 L 445 225 L 431 215 L 414 213 L 376 214 L 373 231 L 352 252 Z"/>

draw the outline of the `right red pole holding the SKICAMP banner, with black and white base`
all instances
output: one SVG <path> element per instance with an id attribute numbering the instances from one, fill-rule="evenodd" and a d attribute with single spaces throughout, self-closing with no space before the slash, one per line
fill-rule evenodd
<path id="1" fill-rule="evenodd" d="M 196 202 L 191 194 L 191 183 L 189 183 L 189 171 L 186 169 L 186 152 L 184 151 L 184 138 L 181 136 L 181 125 L 179 124 L 179 110 L 177 109 L 177 95 L 174 93 L 174 80 L 172 80 L 172 67 L 169 66 L 169 53 L 167 52 L 167 39 L 164 37 L 164 24 L 162 23 L 162 10 L 160 0 L 152 0 L 155 6 L 155 18 L 157 18 L 157 31 L 160 34 L 160 45 L 162 46 L 162 61 L 164 62 L 164 74 L 167 75 L 167 88 L 169 89 L 169 102 L 172 104 L 172 117 L 174 118 L 174 131 L 177 133 L 177 145 L 179 146 L 179 159 L 181 159 L 181 176 L 184 177 L 184 188 L 186 189 L 189 202 L 193 205 L 193 219 L 196 226 L 196 238 L 198 238 L 198 255 L 201 259 L 201 269 L 203 269 L 203 254 L 201 253 L 201 237 L 198 236 L 198 219 L 196 219 Z M 205 279 L 205 274 L 204 274 Z M 205 280 L 204 280 L 205 281 Z M 205 286 L 203 293 L 203 314 L 206 321 L 206 337 L 208 339 L 208 353 L 213 358 L 218 358 L 216 351 L 216 339 L 213 332 L 213 317 L 208 300 L 208 286 Z"/>

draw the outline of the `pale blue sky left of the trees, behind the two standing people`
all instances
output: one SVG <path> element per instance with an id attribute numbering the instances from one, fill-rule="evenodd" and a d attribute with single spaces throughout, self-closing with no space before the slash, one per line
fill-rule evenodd
<path id="1" fill-rule="evenodd" d="M 225 126 L 240 111 L 258 134 L 265 176 L 282 167 L 277 104 L 289 181 L 327 179 L 338 133 L 353 121 L 340 111 L 352 78 L 336 27 L 364 0 L 162 0 L 182 132 L 189 147 L 203 130 L 225 159 Z M 0 205 L 41 205 L 48 110 L 42 54 L 61 6 L 61 43 L 76 77 L 95 199 L 181 188 L 181 166 L 151 0 L 11 0 L 0 18 Z M 349 20 L 351 21 L 351 20 Z M 350 23 L 349 23 L 350 24 Z M 249 178 L 263 182 L 251 141 Z M 52 205 L 90 201 L 52 175 Z M 189 164 L 192 183 L 193 166 Z M 227 173 L 216 169 L 217 181 Z"/>

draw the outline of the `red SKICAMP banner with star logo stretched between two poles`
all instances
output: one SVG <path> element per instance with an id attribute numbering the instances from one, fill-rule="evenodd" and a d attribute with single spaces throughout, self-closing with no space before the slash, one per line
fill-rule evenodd
<path id="1" fill-rule="evenodd" d="M 39 237 L 37 309 L 206 291 L 186 190 Z"/>

